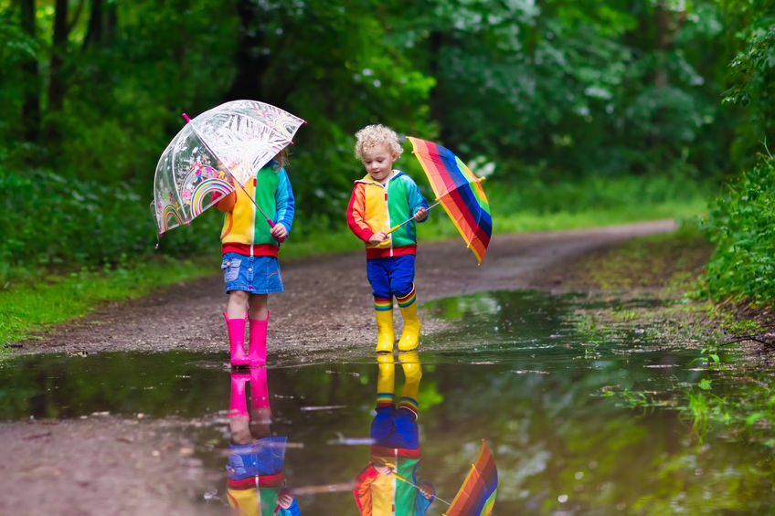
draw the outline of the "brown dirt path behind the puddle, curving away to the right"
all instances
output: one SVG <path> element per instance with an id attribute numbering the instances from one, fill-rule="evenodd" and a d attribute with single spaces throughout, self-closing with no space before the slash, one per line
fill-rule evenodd
<path id="1" fill-rule="evenodd" d="M 561 289 L 560 276 L 553 273 L 556 277 L 547 278 L 547 271 L 558 263 L 628 237 L 674 228 L 672 220 L 662 220 L 498 235 L 479 267 L 461 239 L 421 242 L 415 278 L 419 306 L 425 300 L 482 290 L 546 289 L 547 285 Z M 217 265 L 213 269 L 218 270 Z M 362 253 L 281 260 L 281 269 L 285 291 L 270 296 L 270 354 L 299 356 L 373 340 L 376 324 Z M 179 349 L 226 353 L 221 315 L 225 304 L 223 279 L 214 275 L 142 300 L 105 306 L 41 339 L 20 342 L 17 353 Z"/>

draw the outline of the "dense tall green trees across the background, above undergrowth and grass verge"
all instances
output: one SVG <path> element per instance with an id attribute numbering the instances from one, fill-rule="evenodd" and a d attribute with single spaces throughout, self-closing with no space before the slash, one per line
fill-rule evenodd
<path id="1" fill-rule="evenodd" d="M 309 122 L 291 166 L 316 224 L 375 121 L 495 184 L 715 178 L 771 132 L 772 26 L 764 0 L 0 0 L 0 167 L 150 200 L 180 114 L 252 98 Z"/>

